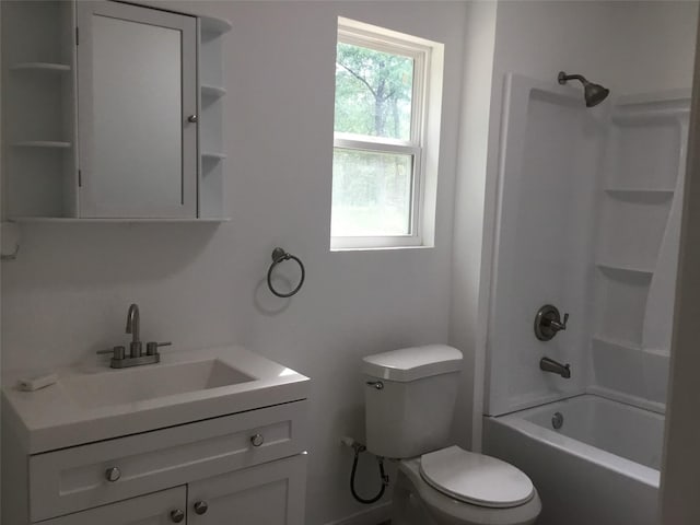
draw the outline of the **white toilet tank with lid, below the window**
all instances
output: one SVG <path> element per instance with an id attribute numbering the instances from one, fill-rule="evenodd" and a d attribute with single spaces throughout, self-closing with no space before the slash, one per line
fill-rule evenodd
<path id="1" fill-rule="evenodd" d="M 446 446 L 460 370 L 462 352 L 445 345 L 364 358 L 368 450 L 407 458 Z"/>

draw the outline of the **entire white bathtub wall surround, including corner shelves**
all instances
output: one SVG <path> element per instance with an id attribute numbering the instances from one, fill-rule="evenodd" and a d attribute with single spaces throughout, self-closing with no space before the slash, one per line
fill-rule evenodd
<path id="1" fill-rule="evenodd" d="M 509 75 L 505 90 L 486 411 L 588 388 L 663 406 L 688 93 L 594 110 L 553 81 Z M 546 342 L 532 326 L 542 304 L 571 316 Z M 571 378 L 542 374 L 539 355 L 571 363 Z"/>

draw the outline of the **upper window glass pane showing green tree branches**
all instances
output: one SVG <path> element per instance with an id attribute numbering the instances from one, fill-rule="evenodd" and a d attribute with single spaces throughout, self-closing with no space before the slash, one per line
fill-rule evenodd
<path id="1" fill-rule="evenodd" d="M 336 131 L 410 140 L 412 92 L 412 58 L 338 43 Z"/>

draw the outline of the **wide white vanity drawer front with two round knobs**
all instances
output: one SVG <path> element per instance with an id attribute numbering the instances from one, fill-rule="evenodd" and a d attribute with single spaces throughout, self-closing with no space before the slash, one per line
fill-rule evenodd
<path id="1" fill-rule="evenodd" d="M 31 456 L 31 520 L 299 454 L 306 447 L 307 406 L 295 401 Z"/>

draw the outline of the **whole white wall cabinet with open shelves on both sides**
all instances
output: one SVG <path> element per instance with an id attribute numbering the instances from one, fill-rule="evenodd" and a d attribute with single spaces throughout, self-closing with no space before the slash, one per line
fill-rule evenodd
<path id="1" fill-rule="evenodd" d="M 225 220 L 228 21 L 137 3 L 3 1 L 9 220 Z"/>

